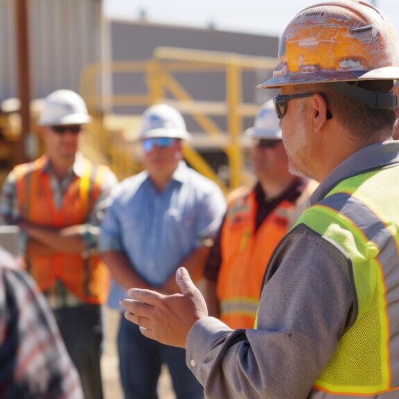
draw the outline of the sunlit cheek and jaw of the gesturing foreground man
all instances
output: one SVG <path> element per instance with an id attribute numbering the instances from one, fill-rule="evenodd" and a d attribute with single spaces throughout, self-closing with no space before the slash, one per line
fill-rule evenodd
<path id="1" fill-rule="evenodd" d="M 281 92 L 284 95 L 294 93 L 292 86 L 283 87 Z M 308 100 L 308 97 L 291 99 L 280 121 L 280 127 L 288 156 L 289 171 L 296 176 L 311 177 L 308 168 L 311 159 L 309 128 L 304 112 Z"/>

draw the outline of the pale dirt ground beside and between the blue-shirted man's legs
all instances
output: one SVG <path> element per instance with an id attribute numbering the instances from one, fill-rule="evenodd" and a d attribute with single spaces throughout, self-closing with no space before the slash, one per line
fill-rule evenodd
<path id="1" fill-rule="evenodd" d="M 124 399 L 119 380 L 116 348 L 119 315 L 117 311 L 108 308 L 104 309 L 106 337 L 104 341 L 104 353 L 101 359 L 101 371 L 105 399 Z M 162 369 L 161 378 L 158 382 L 158 399 L 175 399 L 167 368 Z"/>

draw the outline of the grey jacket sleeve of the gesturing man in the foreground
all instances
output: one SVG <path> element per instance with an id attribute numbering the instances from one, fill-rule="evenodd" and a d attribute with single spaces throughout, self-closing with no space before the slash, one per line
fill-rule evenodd
<path id="1" fill-rule="evenodd" d="M 188 334 L 188 367 L 206 398 L 307 398 L 353 318 L 354 295 L 345 254 L 300 225 L 272 257 L 257 329 L 199 320 Z"/>

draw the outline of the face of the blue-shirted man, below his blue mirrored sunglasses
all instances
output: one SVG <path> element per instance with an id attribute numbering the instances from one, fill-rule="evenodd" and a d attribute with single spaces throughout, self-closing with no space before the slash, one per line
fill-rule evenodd
<path id="1" fill-rule="evenodd" d="M 144 164 L 150 175 L 172 174 L 183 157 L 181 141 L 173 139 L 167 147 L 154 143 L 152 149 L 144 152 Z"/>

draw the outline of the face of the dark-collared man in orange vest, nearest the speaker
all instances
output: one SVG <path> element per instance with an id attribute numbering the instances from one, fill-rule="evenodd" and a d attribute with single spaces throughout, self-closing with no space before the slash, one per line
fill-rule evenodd
<path id="1" fill-rule="evenodd" d="M 252 169 L 258 179 L 277 177 L 288 169 L 282 140 L 254 140 L 250 158 Z"/>

